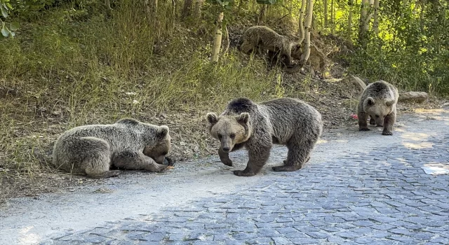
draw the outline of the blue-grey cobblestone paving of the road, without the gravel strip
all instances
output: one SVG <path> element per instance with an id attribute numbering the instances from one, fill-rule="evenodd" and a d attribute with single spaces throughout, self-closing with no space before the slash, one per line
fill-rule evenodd
<path id="1" fill-rule="evenodd" d="M 449 134 L 270 173 L 229 195 L 68 232 L 41 244 L 449 244 Z M 113 211 L 113 210 L 111 210 Z"/>

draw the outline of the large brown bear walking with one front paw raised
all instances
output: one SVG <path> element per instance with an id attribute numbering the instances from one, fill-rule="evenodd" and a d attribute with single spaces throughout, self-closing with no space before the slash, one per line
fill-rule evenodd
<path id="1" fill-rule="evenodd" d="M 235 170 L 236 176 L 254 176 L 265 165 L 273 144 L 287 146 L 287 160 L 273 167 L 276 172 L 295 171 L 310 158 L 323 131 L 321 114 L 299 99 L 273 99 L 256 104 L 250 99 L 234 99 L 217 116 L 208 113 L 210 135 L 220 141 L 218 155 L 227 166 L 232 166 L 229 152 L 245 146 L 249 161 L 244 170 Z"/>

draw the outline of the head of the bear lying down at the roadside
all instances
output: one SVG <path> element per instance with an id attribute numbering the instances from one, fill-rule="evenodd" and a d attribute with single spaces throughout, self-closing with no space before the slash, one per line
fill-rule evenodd
<path id="1" fill-rule="evenodd" d="M 156 126 L 156 135 L 152 134 L 152 143 L 147 144 L 143 150 L 143 154 L 159 164 L 163 164 L 163 160 L 170 151 L 171 137 L 166 125 Z"/>

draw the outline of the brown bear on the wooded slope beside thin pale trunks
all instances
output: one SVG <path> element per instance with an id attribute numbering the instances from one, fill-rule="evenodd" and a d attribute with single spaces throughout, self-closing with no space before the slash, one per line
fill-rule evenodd
<path id="1" fill-rule="evenodd" d="M 300 59 L 302 54 L 300 43 L 290 40 L 288 36 L 279 35 L 276 31 L 265 26 L 249 27 L 243 34 L 243 43 L 240 50 L 250 54 L 256 48 L 269 50 L 271 62 L 276 62 L 278 58 L 285 58 L 287 66 L 292 65 L 292 57 Z"/>

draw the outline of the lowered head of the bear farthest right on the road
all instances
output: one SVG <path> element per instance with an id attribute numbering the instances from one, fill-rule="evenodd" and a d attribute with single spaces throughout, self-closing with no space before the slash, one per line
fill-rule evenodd
<path id="1" fill-rule="evenodd" d="M 375 120 L 377 127 L 383 127 L 385 116 L 394 110 L 394 100 L 368 97 L 363 101 L 363 110 Z"/>

